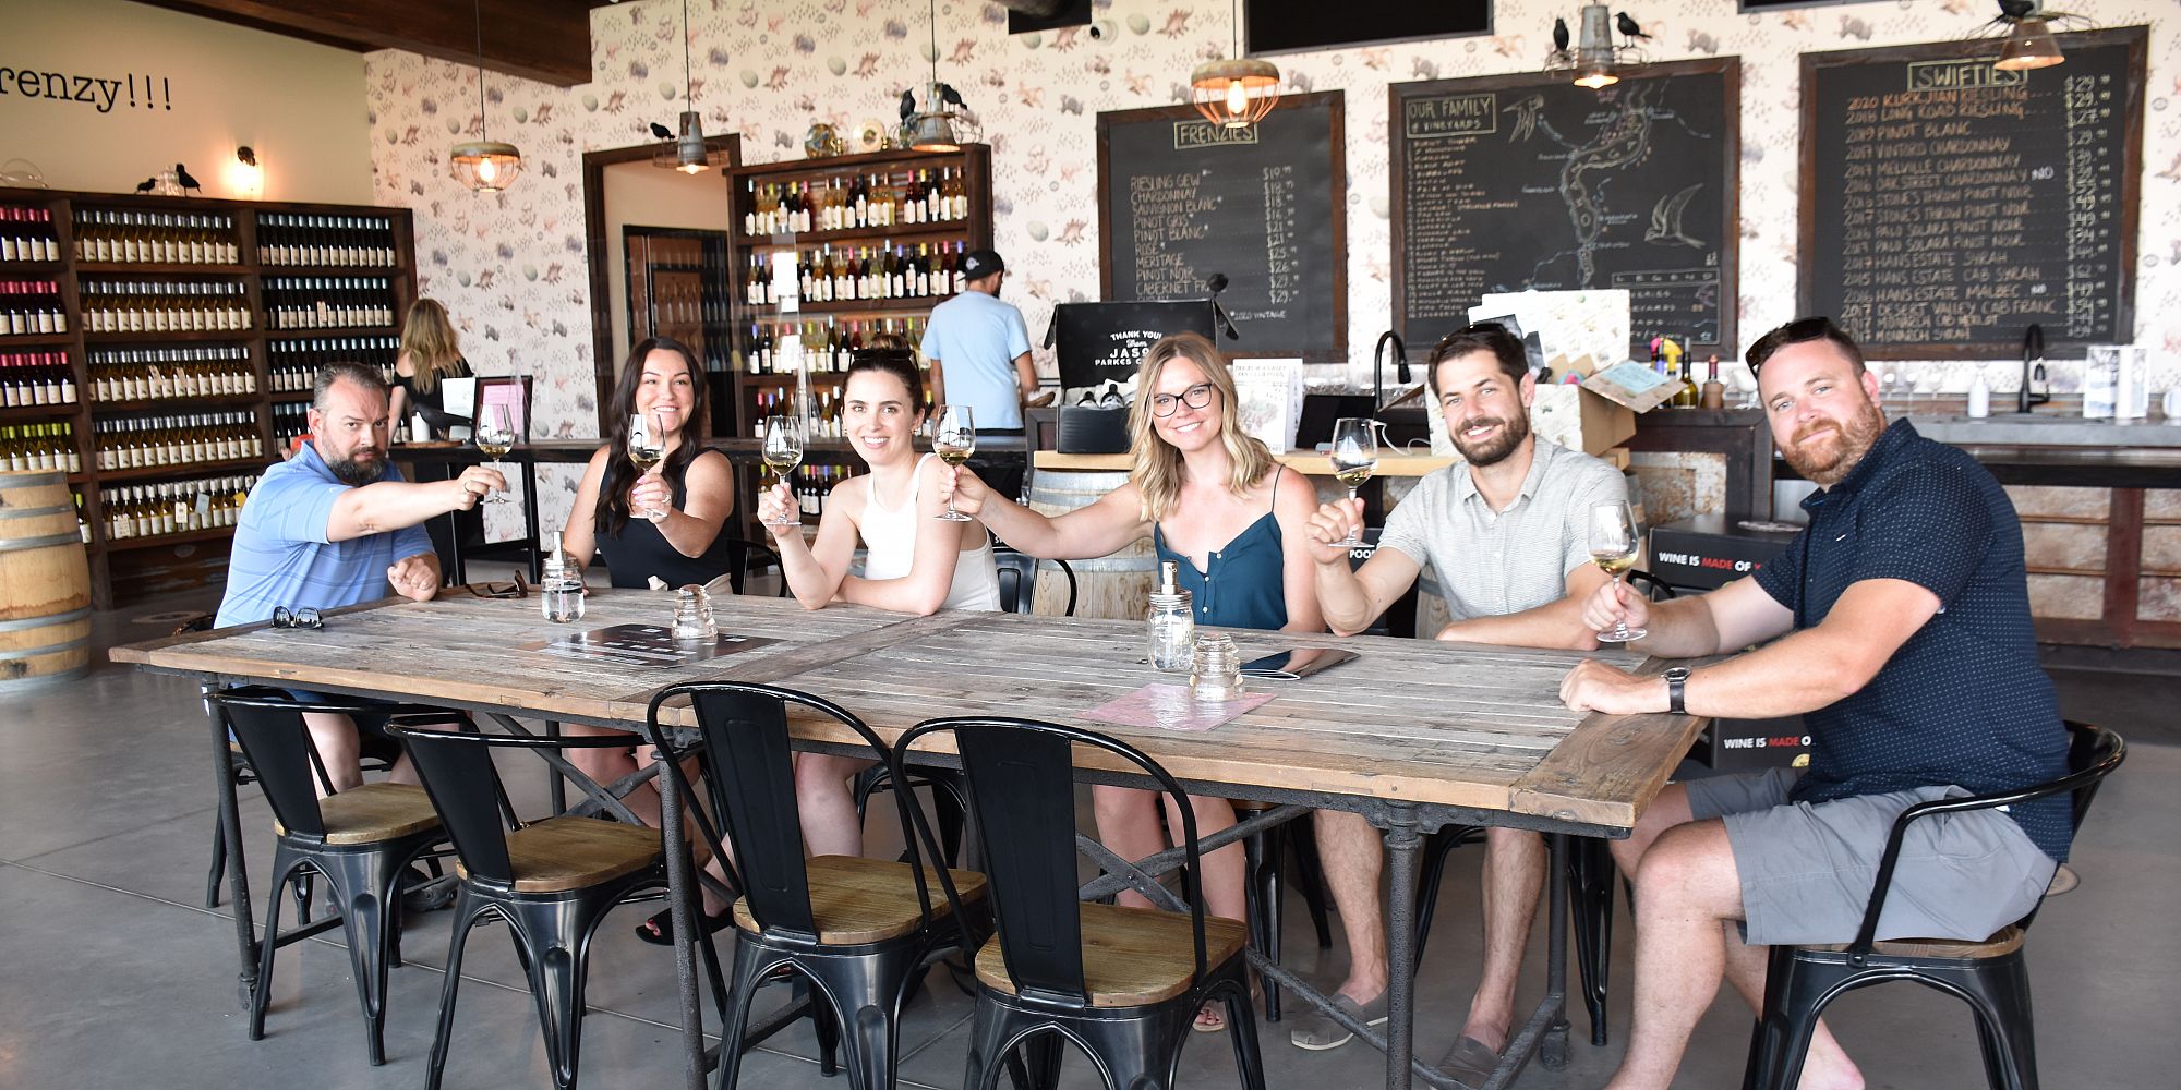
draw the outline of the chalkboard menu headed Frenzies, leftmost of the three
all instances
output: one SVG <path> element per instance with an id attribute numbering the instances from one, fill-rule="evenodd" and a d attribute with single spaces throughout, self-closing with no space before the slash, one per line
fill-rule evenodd
<path id="1" fill-rule="evenodd" d="M 1341 92 L 1296 94 L 1248 129 L 1193 107 L 1097 116 L 1099 288 L 1219 303 L 1232 355 L 1348 358 Z"/>

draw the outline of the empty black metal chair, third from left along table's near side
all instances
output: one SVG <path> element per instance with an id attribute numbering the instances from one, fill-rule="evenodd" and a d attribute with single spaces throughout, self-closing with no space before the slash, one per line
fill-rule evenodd
<path id="1" fill-rule="evenodd" d="M 659 726 L 659 708 L 689 698 L 700 743 L 678 743 Z M 951 870 L 947 900 L 933 903 L 938 872 L 916 848 L 914 802 L 896 791 L 907 859 L 803 855 L 796 807 L 794 752 L 787 706 L 831 717 L 885 756 L 885 741 L 842 706 L 792 689 L 739 682 L 672 685 L 652 695 L 643 735 L 659 748 L 667 776 L 683 798 L 696 798 L 683 778 L 683 759 L 700 754 L 707 802 L 726 828 L 742 874 L 735 900 L 735 968 L 722 1014 L 718 1086 L 731 1088 L 742 1070 L 744 1029 L 752 994 L 781 966 L 811 981 L 814 1003 L 831 1007 L 844 1027 L 848 1086 L 890 1090 L 899 1064 L 901 1005 L 923 966 L 947 948 L 966 948 L 981 916 L 984 876 Z M 722 837 L 704 809 L 694 809 L 702 844 L 720 852 Z M 667 822 L 680 822 L 667 813 Z M 827 1038 L 820 1016 L 820 1040 Z"/>

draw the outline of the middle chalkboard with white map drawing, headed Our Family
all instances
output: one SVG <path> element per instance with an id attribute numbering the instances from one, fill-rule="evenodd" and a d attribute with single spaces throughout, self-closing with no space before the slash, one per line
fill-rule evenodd
<path id="1" fill-rule="evenodd" d="M 1631 351 L 1732 351 L 1740 61 L 1396 83 L 1394 329 L 1411 355 L 1485 292 L 1625 288 Z"/>

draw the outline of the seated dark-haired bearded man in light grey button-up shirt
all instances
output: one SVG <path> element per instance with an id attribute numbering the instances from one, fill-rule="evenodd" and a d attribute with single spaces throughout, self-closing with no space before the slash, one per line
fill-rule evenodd
<path id="1" fill-rule="evenodd" d="M 1426 382 L 1463 462 L 1418 482 L 1387 517 L 1378 552 L 1361 569 L 1350 569 L 1339 543 L 1361 525 L 1363 504 L 1343 499 L 1317 510 L 1309 534 L 1326 623 L 1341 634 L 1363 630 L 1429 562 L 1453 617 L 1439 639 L 1594 650 L 1581 604 L 1605 573 L 1590 562 L 1588 521 L 1592 506 L 1627 499 L 1620 471 L 1538 443 L 1529 429 L 1538 379 L 1522 342 L 1501 325 L 1470 325 L 1442 340 Z M 1348 981 L 1335 1003 L 1378 1025 L 1387 1016 L 1378 833 L 1359 815 L 1320 811 L 1317 846 L 1348 935 Z M 1439 1062 L 1472 1086 L 1498 1062 L 1514 1025 L 1514 985 L 1544 887 L 1544 839 L 1492 828 L 1483 865 L 1483 974 L 1461 1033 Z M 1291 1040 L 1300 1049 L 1335 1049 L 1350 1033 L 1313 1016 Z"/>

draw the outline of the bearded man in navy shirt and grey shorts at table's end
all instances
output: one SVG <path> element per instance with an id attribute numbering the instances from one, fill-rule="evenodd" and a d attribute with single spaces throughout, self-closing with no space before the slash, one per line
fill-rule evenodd
<path id="1" fill-rule="evenodd" d="M 1804 501 L 1810 528 L 1708 595 L 1649 606 L 1607 584 L 1583 617 L 1647 628 L 1634 647 L 1668 658 L 1764 647 L 1666 676 L 1581 663 L 1562 698 L 1804 715 L 1810 767 L 1673 785 L 1614 844 L 1638 887 L 1636 1025 L 1610 1090 L 1664 1090 L 1721 977 L 1751 1005 L 1764 996 L 1767 946 L 1854 940 L 1900 811 L 2068 772 L 2000 484 L 1908 421 L 1889 425 L 1863 351 L 1828 318 L 1764 334 L 1749 366 L 1780 453 L 1821 488 Z M 1908 828 L 1880 940 L 1985 940 L 2037 905 L 2074 835 L 2065 796 Z M 1802 1088 L 1860 1086 L 1819 1027 Z"/>

